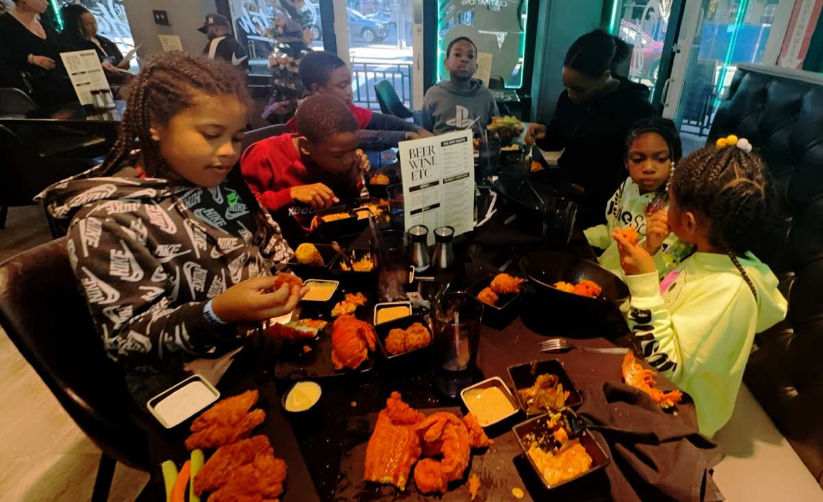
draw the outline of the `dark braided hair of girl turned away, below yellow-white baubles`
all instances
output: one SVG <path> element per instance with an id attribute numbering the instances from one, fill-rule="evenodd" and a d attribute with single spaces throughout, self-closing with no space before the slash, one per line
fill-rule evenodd
<path id="1" fill-rule="evenodd" d="M 677 165 L 672 194 L 681 210 L 700 211 L 709 221 L 709 244 L 723 249 L 757 300 L 737 257 L 751 249 L 752 230 L 766 211 L 763 162 L 738 146 L 706 146 Z"/>

